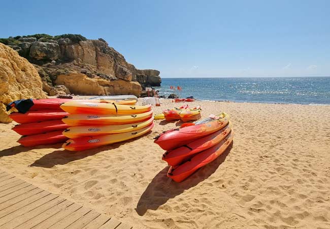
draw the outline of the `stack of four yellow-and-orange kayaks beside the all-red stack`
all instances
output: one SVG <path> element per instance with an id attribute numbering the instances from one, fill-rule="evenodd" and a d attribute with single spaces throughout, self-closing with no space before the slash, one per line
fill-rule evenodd
<path id="1" fill-rule="evenodd" d="M 121 105 L 111 102 L 72 101 L 61 105 L 70 113 L 62 121 L 69 125 L 63 135 L 71 138 L 63 148 L 87 150 L 148 133 L 154 126 L 151 105 Z"/>

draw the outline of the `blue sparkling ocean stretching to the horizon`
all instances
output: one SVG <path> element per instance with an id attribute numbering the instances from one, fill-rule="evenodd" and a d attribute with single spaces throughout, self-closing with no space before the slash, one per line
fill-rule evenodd
<path id="1" fill-rule="evenodd" d="M 159 95 L 258 103 L 330 105 L 330 77 L 162 78 Z M 170 89 L 180 86 L 179 91 Z"/>

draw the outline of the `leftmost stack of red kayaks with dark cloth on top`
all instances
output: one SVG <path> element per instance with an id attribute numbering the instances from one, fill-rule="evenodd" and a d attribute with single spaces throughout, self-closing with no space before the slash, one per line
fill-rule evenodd
<path id="1" fill-rule="evenodd" d="M 38 145 L 64 142 L 68 138 L 62 131 L 68 127 L 61 119 L 67 115 L 60 108 L 60 104 L 70 99 L 28 99 L 15 101 L 12 107 L 19 112 L 12 112 L 9 117 L 19 123 L 12 128 L 22 135 L 17 141 L 22 146 L 32 147 Z"/>

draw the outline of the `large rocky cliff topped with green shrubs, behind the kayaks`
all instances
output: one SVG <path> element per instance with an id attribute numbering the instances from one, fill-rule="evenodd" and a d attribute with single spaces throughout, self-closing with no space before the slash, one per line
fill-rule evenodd
<path id="1" fill-rule="evenodd" d="M 49 95 L 140 96 L 145 87 L 161 83 L 159 71 L 136 69 L 102 38 L 87 40 L 81 35 L 36 34 L 0 39 L 0 42 L 35 65 L 43 90 Z"/>

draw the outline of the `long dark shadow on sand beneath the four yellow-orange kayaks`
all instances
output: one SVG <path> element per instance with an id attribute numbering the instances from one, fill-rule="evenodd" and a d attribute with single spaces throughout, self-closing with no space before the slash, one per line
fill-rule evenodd
<path id="1" fill-rule="evenodd" d="M 150 132 L 149 134 L 151 134 L 151 133 L 152 132 Z M 76 160 L 83 159 L 85 157 L 93 156 L 102 151 L 117 149 L 121 145 L 129 143 L 131 141 L 135 141 L 137 139 L 140 139 L 141 137 L 144 137 L 144 135 L 137 137 L 137 138 L 130 139 L 130 140 L 125 140 L 125 141 L 117 142 L 117 143 L 114 143 L 111 145 L 101 146 L 101 147 L 84 150 L 84 151 L 74 152 L 74 151 L 69 151 L 69 150 L 56 150 L 56 151 L 53 151 L 52 153 L 44 155 L 43 157 L 41 157 L 40 159 L 38 159 L 34 163 L 32 163 L 30 166 L 31 167 L 35 166 L 35 167 L 51 168 L 57 164 L 61 164 L 61 165 L 67 164 L 72 161 L 76 161 Z"/>

